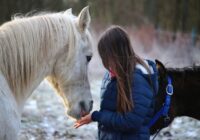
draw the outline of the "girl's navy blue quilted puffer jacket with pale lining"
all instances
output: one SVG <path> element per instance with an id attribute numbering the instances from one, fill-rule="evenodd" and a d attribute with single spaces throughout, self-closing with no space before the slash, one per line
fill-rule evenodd
<path id="1" fill-rule="evenodd" d="M 152 69 L 150 75 L 143 72 L 141 65 L 136 66 L 134 70 L 132 82 L 134 108 L 124 114 L 116 111 L 117 81 L 115 78 L 110 78 L 108 72 L 105 74 L 101 87 L 100 110 L 92 113 L 92 120 L 98 122 L 100 140 L 150 139 L 147 125 L 154 115 L 154 97 L 158 91 L 158 80 L 155 63 L 147 60 L 147 64 Z"/>

